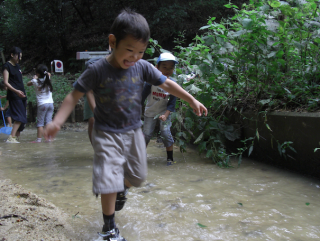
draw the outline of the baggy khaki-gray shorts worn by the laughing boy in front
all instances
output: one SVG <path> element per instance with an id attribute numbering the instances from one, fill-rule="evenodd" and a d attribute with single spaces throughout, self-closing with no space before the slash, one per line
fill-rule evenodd
<path id="1" fill-rule="evenodd" d="M 111 133 L 93 128 L 92 191 L 108 194 L 124 190 L 124 178 L 138 187 L 147 176 L 146 143 L 141 128 Z"/>

